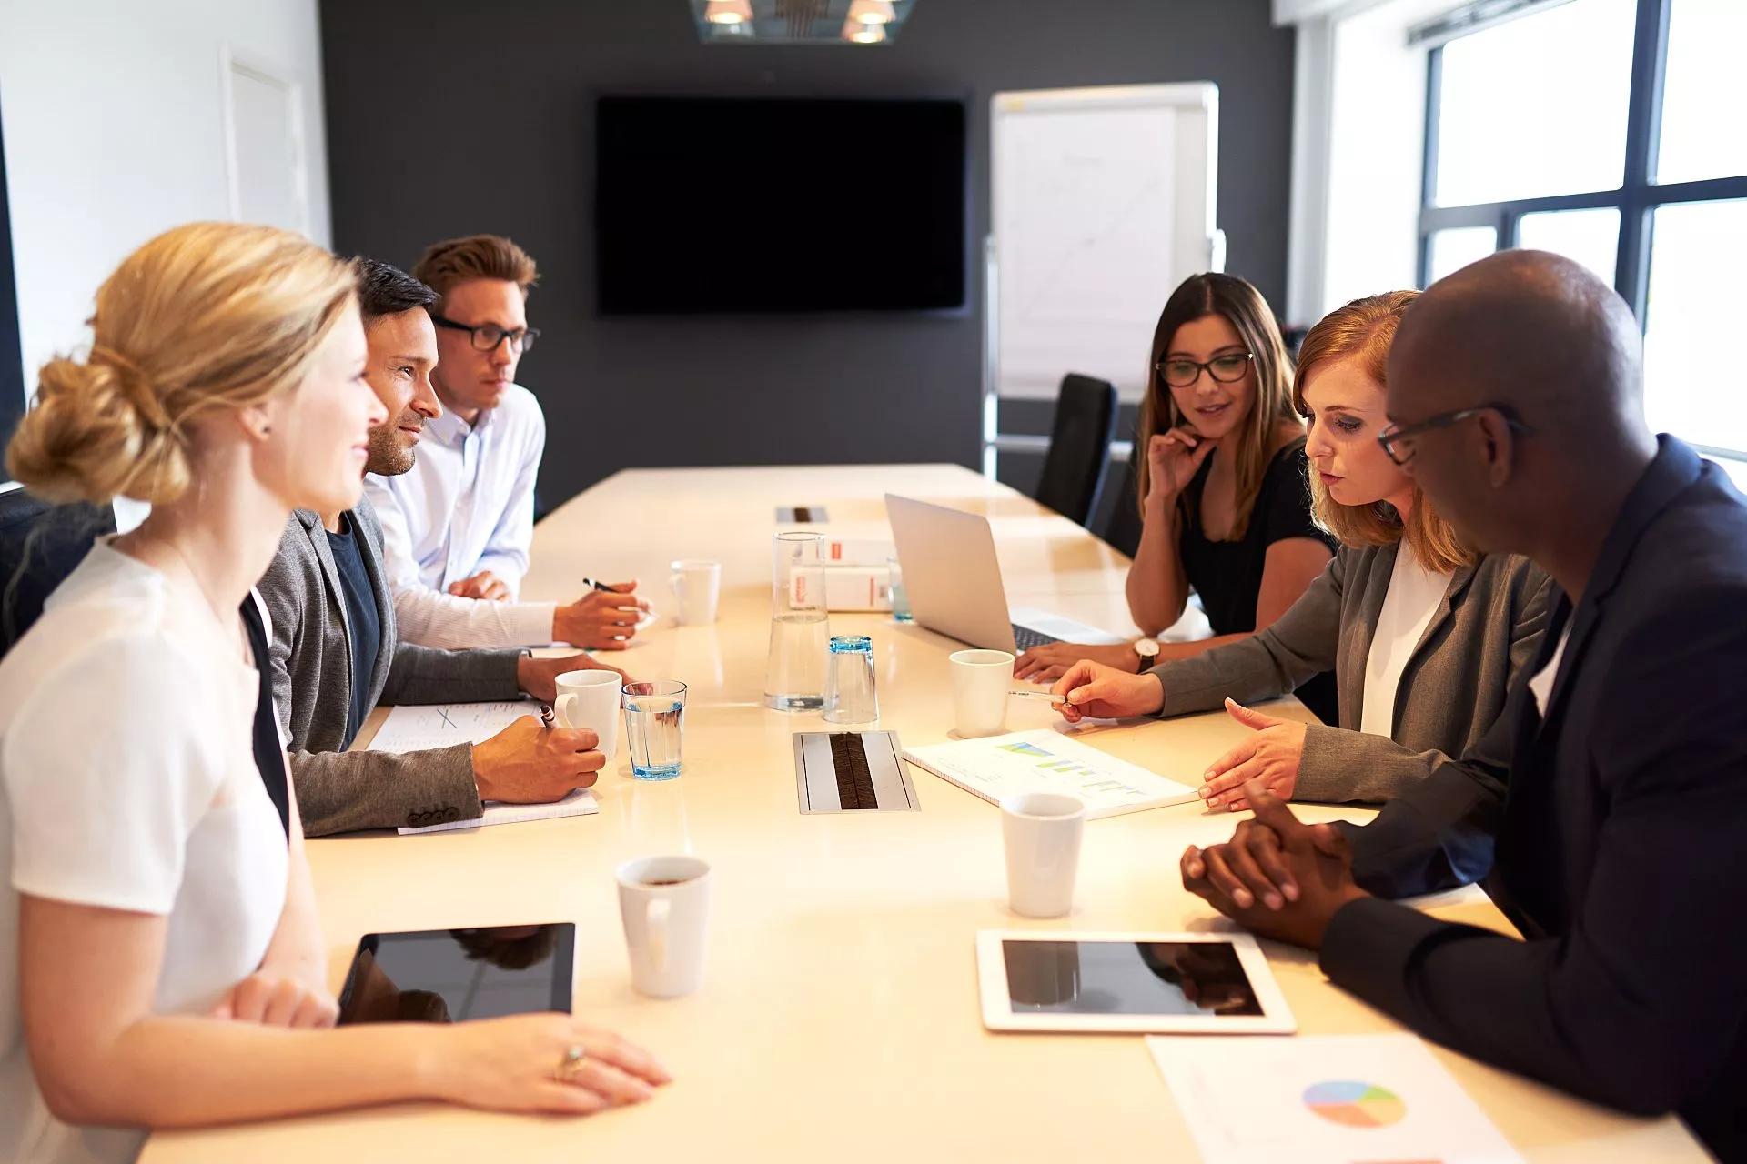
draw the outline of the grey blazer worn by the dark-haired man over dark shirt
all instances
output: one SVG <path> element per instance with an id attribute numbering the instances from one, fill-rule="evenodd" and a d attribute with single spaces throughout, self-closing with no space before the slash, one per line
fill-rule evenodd
<path id="1" fill-rule="evenodd" d="M 369 705 L 517 698 L 521 651 L 438 651 L 398 642 L 395 600 L 383 572 L 383 527 L 369 497 L 358 499 L 351 520 L 383 625 Z M 398 756 L 342 750 L 351 709 L 351 620 L 320 517 L 292 513 L 259 590 L 273 614 L 273 703 L 290 749 L 304 832 L 477 817 L 470 743 Z"/>

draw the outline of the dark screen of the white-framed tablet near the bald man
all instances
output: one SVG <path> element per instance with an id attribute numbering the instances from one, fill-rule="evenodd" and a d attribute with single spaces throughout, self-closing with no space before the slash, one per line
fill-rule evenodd
<path id="1" fill-rule="evenodd" d="M 1230 942 L 1001 942 L 1013 1014 L 1260 1016 Z"/>

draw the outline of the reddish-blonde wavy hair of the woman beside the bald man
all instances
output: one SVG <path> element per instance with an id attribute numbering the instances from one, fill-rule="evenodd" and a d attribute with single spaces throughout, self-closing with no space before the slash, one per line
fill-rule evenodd
<path id="1" fill-rule="evenodd" d="M 1300 415 L 1310 412 L 1305 405 L 1305 382 L 1321 365 L 1352 359 L 1378 387 L 1389 384 L 1389 346 L 1396 339 L 1396 328 L 1401 326 L 1401 316 L 1419 295 L 1419 291 L 1387 291 L 1356 298 L 1328 312 L 1310 328 L 1298 347 L 1298 372 L 1293 377 L 1293 405 Z M 1392 546 L 1406 541 L 1420 565 L 1441 574 L 1480 560 L 1480 553 L 1433 510 L 1419 485 L 1413 485 L 1413 510 L 1403 524 L 1401 515 L 1387 501 L 1364 506 L 1340 504 L 1328 496 L 1322 478 L 1312 473 L 1310 513 L 1317 525 L 1335 534 L 1345 546 Z"/>

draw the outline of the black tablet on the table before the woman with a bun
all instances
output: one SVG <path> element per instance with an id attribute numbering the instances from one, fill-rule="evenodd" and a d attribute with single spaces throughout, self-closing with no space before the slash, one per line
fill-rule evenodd
<path id="1" fill-rule="evenodd" d="M 568 1014 L 575 951 L 577 927 L 570 921 L 365 934 L 339 995 L 339 1021 Z"/>

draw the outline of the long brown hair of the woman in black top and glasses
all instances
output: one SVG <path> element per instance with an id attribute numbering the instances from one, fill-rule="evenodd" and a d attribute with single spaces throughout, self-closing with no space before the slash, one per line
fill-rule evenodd
<path id="1" fill-rule="evenodd" d="M 1256 375 L 1256 400 L 1244 421 L 1244 431 L 1232 445 L 1237 464 L 1237 508 L 1228 537 L 1237 541 L 1249 527 L 1249 511 L 1261 492 L 1261 478 L 1268 471 L 1274 457 L 1274 433 L 1282 422 L 1298 424 L 1293 412 L 1291 377 L 1293 361 L 1286 354 L 1286 340 L 1281 339 L 1281 325 L 1275 323 L 1268 300 L 1261 291 L 1237 276 L 1209 270 L 1190 276 L 1165 300 L 1165 309 L 1158 312 L 1158 326 L 1153 328 L 1153 351 L 1146 361 L 1146 398 L 1141 401 L 1141 426 L 1134 438 L 1134 478 L 1139 483 L 1136 501 L 1146 508 L 1146 490 L 1151 485 L 1151 466 L 1146 448 L 1155 433 L 1167 433 L 1183 424 L 1183 414 L 1164 379 L 1158 375 L 1158 363 L 1170 351 L 1170 342 L 1177 328 L 1202 316 L 1223 316 L 1230 323 L 1244 346 L 1254 354 L 1251 368 Z M 1177 497 L 1177 506 L 1186 506 L 1184 497 Z"/>

